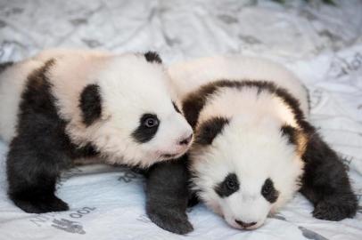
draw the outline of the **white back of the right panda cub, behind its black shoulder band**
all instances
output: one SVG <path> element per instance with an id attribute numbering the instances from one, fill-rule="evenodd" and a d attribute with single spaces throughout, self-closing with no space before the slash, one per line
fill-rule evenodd
<path id="1" fill-rule="evenodd" d="M 268 81 L 300 101 L 305 116 L 309 115 L 308 92 L 300 80 L 283 66 L 270 60 L 242 56 L 218 56 L 190 60 L 169 67 L 169 75 L 181 99 L 201 85 L 218 80 Z"/>

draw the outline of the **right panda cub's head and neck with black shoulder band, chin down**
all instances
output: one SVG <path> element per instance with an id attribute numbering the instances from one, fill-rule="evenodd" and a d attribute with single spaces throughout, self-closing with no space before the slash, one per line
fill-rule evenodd
<path id="1" fill-rule="evenodd" d="M 194 189 L 234 228 L 259 228 L 300 188 L 303 134 L 270 88 L 216 82 L 184 101 Z"/>

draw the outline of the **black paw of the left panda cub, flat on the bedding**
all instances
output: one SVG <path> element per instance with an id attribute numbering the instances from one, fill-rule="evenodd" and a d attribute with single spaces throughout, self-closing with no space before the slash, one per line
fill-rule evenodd
<path id="1" fill-rule="evenodd" d="M 16 199 L 12 198 L 15 205 L 29 213 L 62 212 L 69 210 L 68 204 L 56 196 L 42 197 L 41 199 Z"/>

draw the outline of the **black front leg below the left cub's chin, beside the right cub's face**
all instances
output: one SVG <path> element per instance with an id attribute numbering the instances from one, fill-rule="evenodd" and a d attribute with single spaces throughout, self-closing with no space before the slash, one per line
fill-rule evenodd
<path id="1" fill-rule="evenodd" d="M 160 228 L 177 234 L 193 231 L 187 220 L 189 199 L 186 156 L 155 164 L 146 173 L 146 212 Z"/>

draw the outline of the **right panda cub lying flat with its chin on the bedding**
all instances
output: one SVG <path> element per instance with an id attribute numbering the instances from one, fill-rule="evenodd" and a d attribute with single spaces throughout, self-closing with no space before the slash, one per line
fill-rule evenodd
<path id="1" fill-rule="evenodd" d="M 308 92 L 276 63 L 240 56 L 169 68 L 195 140 L 197 196 L 234 228 L 259 228 L 300 191 L 321 220 L 357 210 L 341 157 L 309 124 Z"/>

